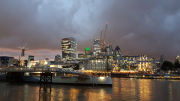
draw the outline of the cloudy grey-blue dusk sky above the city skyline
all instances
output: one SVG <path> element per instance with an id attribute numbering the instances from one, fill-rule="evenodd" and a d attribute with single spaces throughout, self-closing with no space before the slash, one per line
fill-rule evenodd
<path id="1" fill-rule="evenodd" d="M 53 59 L 61 55 L 61 39 L 75 37 L 78 52 L 99 38 L 108 22 L 106 43 L 122 54 L 180 54 L 179 0 L 1 0 L 0 55 L 18 57 L 18 45 L 28 43 L 28 55 Z"/>

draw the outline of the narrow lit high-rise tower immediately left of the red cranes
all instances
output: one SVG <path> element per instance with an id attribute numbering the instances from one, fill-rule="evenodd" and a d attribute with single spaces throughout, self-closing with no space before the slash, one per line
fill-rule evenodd
<path id="1" fill-rule="evenodd" d="M 94 42 L 93 42 L 94 55 L 98 55 L 98 53 L 101 53 L 100 41 L 101 41 L 100 39 L 94 39 Z"/>

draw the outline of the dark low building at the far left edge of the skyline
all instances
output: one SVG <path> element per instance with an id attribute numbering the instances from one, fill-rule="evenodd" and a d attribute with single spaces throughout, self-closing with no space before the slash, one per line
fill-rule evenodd
<path id="1" fill-rule="evenodd" d="M 10 67 L 13 66 L 14 57 L 0 56 L 0 67 Z"/>

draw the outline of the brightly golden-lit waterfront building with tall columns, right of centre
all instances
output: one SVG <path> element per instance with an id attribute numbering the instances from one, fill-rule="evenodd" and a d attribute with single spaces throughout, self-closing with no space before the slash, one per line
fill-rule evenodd
<path id="1" fill-rule="evenodd" d="M 136 63 L 138 66 L 138 71 L 152 71 L 152 69 L 156 66 L 156 64 L 154 63 L 154 58 L 148 55 L 137 56 Z"/>

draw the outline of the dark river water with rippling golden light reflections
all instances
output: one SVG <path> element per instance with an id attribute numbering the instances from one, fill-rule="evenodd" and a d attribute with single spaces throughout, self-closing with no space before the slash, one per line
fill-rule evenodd
<path id="1" fill-rule="evenodd" d="M 0 101 L 180 101 L 180 81 L 112 78 L 112 87 L 0 82 Z"/>

